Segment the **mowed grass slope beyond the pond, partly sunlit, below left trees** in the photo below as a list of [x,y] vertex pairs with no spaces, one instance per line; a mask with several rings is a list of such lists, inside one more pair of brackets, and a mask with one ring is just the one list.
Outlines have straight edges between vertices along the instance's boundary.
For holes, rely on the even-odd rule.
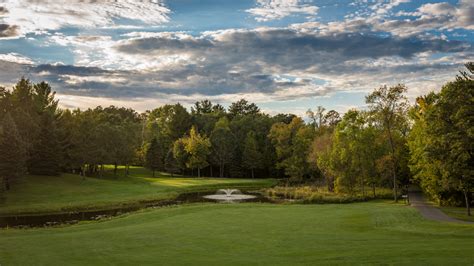
[[52,213],[86,209],[106,209],[140,201],[171,199],[179,193],[226,187],[260,188],[273,185],[273,179],[230,179],[170,177],[147,169],[123,169],[114,177],[108,169],[104,178],[79,175],[26,176],[16,180],[11,190],[0,194],[0,215]]

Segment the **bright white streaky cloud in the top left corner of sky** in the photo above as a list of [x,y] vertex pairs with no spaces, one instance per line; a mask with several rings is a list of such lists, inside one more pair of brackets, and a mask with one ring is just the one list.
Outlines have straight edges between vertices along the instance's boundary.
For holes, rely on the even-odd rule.
[[120,18],[160,24],[168,21],[170,13],[161,0],[0,0],[0,4],[8,10],[0,22],[19,27],[20,36],[65,26],[117,26]]

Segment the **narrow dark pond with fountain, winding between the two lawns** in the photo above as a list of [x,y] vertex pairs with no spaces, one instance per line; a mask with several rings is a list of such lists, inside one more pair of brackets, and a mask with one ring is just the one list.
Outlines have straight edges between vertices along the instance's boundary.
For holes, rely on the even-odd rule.
[[217,199],[207,198],[215,194],[215,191],[182,193],[173,200],[158,200],[143,202],[133,206],[119,207],[106,210],[91,210],[91,211],[77,211],[66,213],[53,214],[37,214],[37,215],[16,215],[16,216],[0,216],[0,227],[15,227],[15,228],[29,228],[29,227],[46,227],[61,224],[75,224],[79,221],[93,221],[109,218],[125,213],[138,211],[145,208],[159,208],[164,206],[172,206],[186,203],[198,202],[214,202],[216,204],[222,203],[238,203],[245,202],[273,202],[271,199],[256,192],[244,192],[246,195],[252,195],[252,198],[245,200],[221,201]]

